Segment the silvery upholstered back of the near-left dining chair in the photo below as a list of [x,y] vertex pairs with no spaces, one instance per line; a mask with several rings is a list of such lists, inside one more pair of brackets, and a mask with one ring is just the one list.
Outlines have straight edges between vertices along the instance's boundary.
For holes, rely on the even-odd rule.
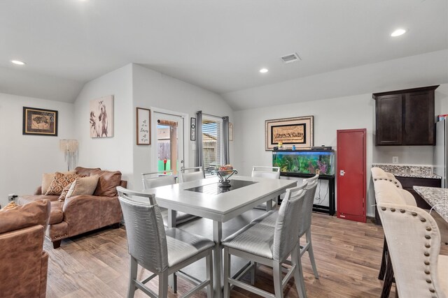
[[[118,187],[117,191],[130,255],[146,269],[165,271],[168,267],[167,237],[155,196],[122,187]],[[135,195],[138,198],[133,197]]]

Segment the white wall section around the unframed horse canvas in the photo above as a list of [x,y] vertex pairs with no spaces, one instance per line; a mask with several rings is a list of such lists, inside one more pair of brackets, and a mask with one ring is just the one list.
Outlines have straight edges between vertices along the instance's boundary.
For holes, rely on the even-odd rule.
[[[113,95],[113,137],[90,137],[90,100]],[[128,64],[87,82],[75,101],[76,138],[80,145],[78,165],[120,170],[132,188],[132,65]]]

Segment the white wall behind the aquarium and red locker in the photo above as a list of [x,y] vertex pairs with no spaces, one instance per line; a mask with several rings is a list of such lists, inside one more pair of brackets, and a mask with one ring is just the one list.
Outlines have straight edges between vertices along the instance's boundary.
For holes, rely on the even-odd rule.
[[[297,94],[297,102],[302,101]],[[448,114],[448,84],[435,92],[436,114]],[[399,156],[400,163],[432,164],[433,147],[375,147],[374,100],[372,94],[360,94],[315,100],[291,105],[276,105],[235,112],[235,167],[239,174],[250,174],[252,165],[271,165],[272,152],[265,151],[265,120],[314,115],[314,144],[336,149],[338,129],[367,128],[367,169],[372,162],[391,163],[392,156]],[[367,188],[370,171],[367,171]],[[337,200],[337,198],[336,198]],[[367,215],[374,214],[374,197],[367,193]]]

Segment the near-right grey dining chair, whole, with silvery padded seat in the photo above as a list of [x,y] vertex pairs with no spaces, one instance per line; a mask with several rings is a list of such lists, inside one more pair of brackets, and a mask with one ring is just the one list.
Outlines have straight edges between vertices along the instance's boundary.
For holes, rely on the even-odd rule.
[[[250,223],[235,234],[223,241],[224,246],[224,297],[230,297],[230,285],[235,285],[245,290],[254,292],[262,297],[283,297],[283,288],[289,279],[294,276],[295,286],[300,297],[306,297],[302,275],[302,264],[298,260],[299,225],[297,223],[300,206],[304,202],[306,183],[302,186],[286,190],[285,198],[281,202],[276,225],[263,225],[262,223]],[[241,277],[230,276],[231,255],[261,263],[273,268],[274,295],[252,284],[239,280]],[[282,264],[291,256],[291,264],[288,274],[282,277]],[[250,269],[250,267],[248,267]],[[253,283],[253,278],[251,278]]]

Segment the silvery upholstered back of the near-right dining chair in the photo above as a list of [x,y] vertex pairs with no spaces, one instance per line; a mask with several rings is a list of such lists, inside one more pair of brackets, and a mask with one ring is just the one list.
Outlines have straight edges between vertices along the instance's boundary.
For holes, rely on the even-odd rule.
[[307,182],[304,182],[301,186],[288,188],[285,198],[281,202],[272,247],[272,258],[276,261],[283,262],[283,260],[286,260],[297,245],[297,234],[299,234],[297,214],[300,214],[306,187]]

